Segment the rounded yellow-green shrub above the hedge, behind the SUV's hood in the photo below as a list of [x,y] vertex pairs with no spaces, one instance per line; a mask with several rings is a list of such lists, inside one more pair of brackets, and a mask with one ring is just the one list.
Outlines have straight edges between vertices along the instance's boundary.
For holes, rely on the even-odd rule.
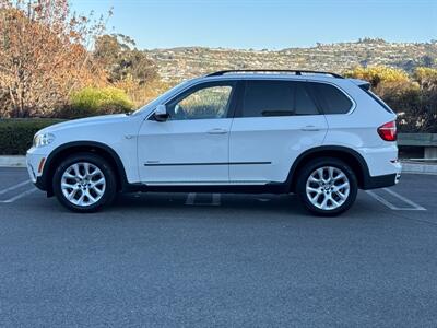
[[85,87],[74,92],[70,105],[59,113],[62,118],[80,118],[105,114],[129,113],[133,103],[117,87]]

